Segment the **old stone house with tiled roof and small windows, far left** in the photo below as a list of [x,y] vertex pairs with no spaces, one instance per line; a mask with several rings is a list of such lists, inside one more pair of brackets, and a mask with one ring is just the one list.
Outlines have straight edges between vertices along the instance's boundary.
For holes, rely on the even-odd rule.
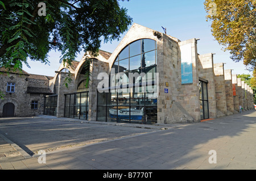
[[45,75],[0,68],[0,117],[35,116],[43,114],[44,96],[51,95]]

